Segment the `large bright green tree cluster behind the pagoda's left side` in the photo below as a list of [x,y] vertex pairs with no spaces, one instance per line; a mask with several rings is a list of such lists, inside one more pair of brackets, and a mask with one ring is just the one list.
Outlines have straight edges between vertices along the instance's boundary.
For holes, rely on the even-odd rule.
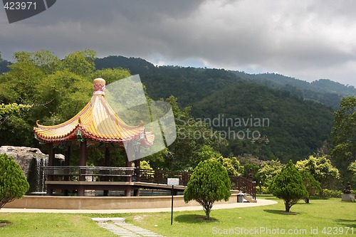
[[[110,83],[129,75],[119,68],[95,71],[94,58],[90,50],[70,53],[63,60],[50,51],[14,53],[10,70],[0,74],[0,144],[38,147],[33,137],[36,120],[42,125],[65,122],[90,101],[95,76],[108,76]],[[31,105],[26,113],[18,110]],[[101,157],[88,157],[88,162],[96,164]]]

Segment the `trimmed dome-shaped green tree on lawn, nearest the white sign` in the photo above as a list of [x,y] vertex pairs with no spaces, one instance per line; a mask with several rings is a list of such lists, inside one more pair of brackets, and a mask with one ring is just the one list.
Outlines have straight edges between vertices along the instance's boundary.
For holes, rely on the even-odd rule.
[[206,159],[194,169],[184,190],[184,201],[197,201],[210,219],[215,201],[228,201],[231,196],[231,181],[226,169],[216,159]]

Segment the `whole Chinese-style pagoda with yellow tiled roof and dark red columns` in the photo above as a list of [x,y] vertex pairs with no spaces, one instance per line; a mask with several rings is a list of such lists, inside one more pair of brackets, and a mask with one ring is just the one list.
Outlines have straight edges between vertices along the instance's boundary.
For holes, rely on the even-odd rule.
[[[83,107],[83,110],[80,110],[70,120],[54,126],[40,125],[37,121],[36,127],[33,127],[36,139],[49,147],[48,167],[53,167],[53,172],[48,174],[58,174],[58,172],[61,173],[64,170],[63,167],[54,167],[55,147],[65,147],[64,167],[70,167],[70,149],[73,144],[78,144],[80,147],[78,167],[82,168],[86,166],[86,154],[89,145],[105,146],[104,167],[110,167],[110,147],[122,147],[126,150],[127,157],[125,159],[128,170],[132,169],[132,160],[135,160],[135,167],[140,167],[141,147],[150,147],[154,142],[155,135],[152,131],[146,132],[142,122],[137,126],[127,125],[112,110],[105,99],[105,80],[96,78],[93,83],[94,93],[91,100]],[[70,169],[66,170],[68,172]],[[48,175],[47,181],[51,181],[51,179],[53,177]],[[132,177],[128,176],[126,181],[131,181],[131,179]],[[79,181],[81,183],[75,184],[75,189],[78,190],[78,196],[84,196],[85,183],[83,181],[85,181],[85,175],[79,175]],[[53,194],[53,189],[66,190],[67,188],[68,186],[63,183],[58,184],[58,186],[47,184],[47,194]],[[108,195],[108,190],[105,190],[105,187],[103,187],[103,190],[104,195]],[[130,192],[130,187],[126,187],[125,195],[130,196]]]

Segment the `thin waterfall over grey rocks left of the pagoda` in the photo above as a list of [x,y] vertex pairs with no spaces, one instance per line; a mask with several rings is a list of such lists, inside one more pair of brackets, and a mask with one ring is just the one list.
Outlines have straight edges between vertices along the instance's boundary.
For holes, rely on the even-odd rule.
[[28,173],[28,194],[46,194],[46,174],[43,167],[48,165],[48,158],[33,158]]

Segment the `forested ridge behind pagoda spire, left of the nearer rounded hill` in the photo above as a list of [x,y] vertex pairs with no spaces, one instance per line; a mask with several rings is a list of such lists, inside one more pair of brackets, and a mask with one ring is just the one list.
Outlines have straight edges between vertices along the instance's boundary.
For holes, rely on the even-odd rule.
[[155,67],[141,58],[109,56],[95,60],[97,69],[127,68],[132,75],[140,74],[150,97],[158,100],[174,95],[179,105],[192,105],[226,85],[241,78],[224,69],[182,68],[178,66]]

